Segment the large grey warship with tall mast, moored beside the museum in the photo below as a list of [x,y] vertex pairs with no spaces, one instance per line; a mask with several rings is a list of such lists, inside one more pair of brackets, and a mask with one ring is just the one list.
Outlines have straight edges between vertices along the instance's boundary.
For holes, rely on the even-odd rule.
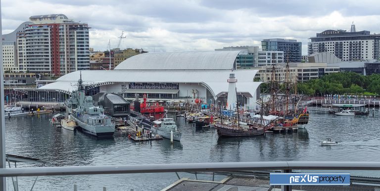
[[71,97],[65,101],[66,113],[74,119],[84,133],[96,137],[112,137],[115,124],[108,115],[104,114],[101,106],[93,104],[93,97],[86,96],[82,84],[82,73],[78,80],[78,90],[73,91]]

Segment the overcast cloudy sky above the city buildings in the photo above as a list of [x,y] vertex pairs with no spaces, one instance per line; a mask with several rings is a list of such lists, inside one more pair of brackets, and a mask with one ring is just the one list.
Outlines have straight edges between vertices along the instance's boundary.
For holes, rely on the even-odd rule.
[[328,29],[380,33],[376,0],[1,0],[2,34],[32,15],[65,14],[88,23],[90,47],[198,51],[259,46],[268,38],[308,38]]

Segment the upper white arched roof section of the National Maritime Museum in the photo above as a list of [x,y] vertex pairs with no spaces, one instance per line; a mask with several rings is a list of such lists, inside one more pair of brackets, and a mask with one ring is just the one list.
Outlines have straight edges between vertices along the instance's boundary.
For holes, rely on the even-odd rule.
[[148,52],[124,60],[115,70],[234,70],[239,52]]

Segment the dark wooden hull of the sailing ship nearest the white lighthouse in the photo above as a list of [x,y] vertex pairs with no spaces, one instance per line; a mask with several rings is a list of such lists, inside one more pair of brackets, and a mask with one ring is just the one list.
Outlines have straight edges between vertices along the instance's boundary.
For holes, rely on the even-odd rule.
[[217,124],[214,126],[218,130],[219,137],[252,137],[264,135],[263,130],[228,128]]

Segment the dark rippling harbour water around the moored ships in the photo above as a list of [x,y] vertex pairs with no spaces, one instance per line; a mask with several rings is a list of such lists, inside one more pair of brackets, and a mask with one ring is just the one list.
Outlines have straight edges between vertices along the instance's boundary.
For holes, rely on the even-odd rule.
[[[127,165],[150,163],[238,161],[379,161],[379,111],[370,116],[335,116],[311,113],[306,129],[265,137],[218,138],[213,128],[197,131],[178,118],[181,142],[169,140],[135,143],[126,137],[98,140],[82,132],[51,125],[52,114],[6,119],[6,153],[47,161],[46,166]],[[169,114],[169,117],[174,117]],[[326,138],[337,145],[322,146]],[[18,164],[33,166],[30,164]],[[12,167],[13,168],[13,167]],[[358,175],[380,177],[375,172]],[[195,178],[180,173],[181,177]],[[198,175],[198,178],[200,176]],[[203,178],[208,178],[206,175]],[[219,177],[222,178],[222,177]],[[31,188],[35,177],[19,177],[19,190]],[[160,190],[178,180],[175,173],[39,177],[34,190]],[[8,189],[13,190],[8,178]]]

